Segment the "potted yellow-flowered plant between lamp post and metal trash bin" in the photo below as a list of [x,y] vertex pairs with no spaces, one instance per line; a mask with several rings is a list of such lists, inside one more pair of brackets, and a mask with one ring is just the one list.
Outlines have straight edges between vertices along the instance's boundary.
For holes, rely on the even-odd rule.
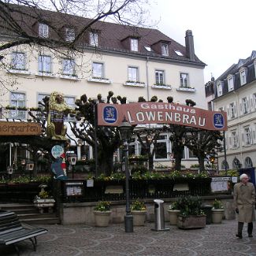
[[145,203],[139,200],[135,200],[132,203],[132,216],[133,216],[133,225],[143,226],[146,223],[146,214],[147,208]]

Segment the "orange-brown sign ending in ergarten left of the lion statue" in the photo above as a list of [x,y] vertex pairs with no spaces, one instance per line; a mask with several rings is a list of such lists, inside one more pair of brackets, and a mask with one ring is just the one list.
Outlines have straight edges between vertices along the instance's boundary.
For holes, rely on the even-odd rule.
[[39,123],[0,121],[0,135],[41,135]]

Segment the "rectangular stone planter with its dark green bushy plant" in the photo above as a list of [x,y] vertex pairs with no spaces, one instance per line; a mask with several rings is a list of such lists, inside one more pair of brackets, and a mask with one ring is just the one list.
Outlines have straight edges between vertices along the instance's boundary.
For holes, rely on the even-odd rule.
[[202,200],[198,196],[182,196],[177,200],[180,215],[177,226],[181,229],[204,228],[206,226],[206,215],[201,210]]

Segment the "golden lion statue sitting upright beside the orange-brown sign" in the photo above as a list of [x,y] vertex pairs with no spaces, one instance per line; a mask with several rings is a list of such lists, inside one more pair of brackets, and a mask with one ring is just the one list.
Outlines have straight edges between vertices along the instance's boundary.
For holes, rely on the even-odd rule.
[[64,124],[65,113],[71,108],[65,103],[63,94],[54,91],[50,94],[49,113],[47,117],[46,135],[50,139],[66,140],[67,126]]

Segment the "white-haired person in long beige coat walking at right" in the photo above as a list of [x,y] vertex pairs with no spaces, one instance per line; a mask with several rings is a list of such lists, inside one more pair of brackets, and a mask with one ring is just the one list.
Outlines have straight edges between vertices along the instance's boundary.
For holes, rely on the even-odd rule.
[[243,238],[243,223],[247,222],[248,236],[252,237],[253,221],[255,221],[254,203],[255,188],[254,184],[248,182],[247,174],[240,176],[240,182],[234,187],[234,202],[236,213],[238,213],[238,232],[236,234],[240,239]]

